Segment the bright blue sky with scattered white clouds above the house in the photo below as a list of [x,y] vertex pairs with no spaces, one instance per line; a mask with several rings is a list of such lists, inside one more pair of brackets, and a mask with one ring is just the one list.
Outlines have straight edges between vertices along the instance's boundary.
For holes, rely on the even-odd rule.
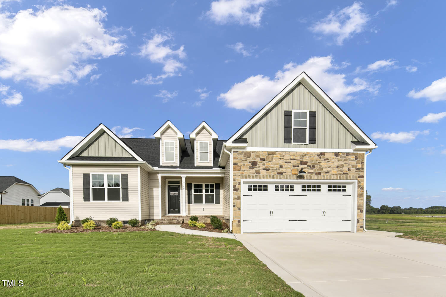
[[151,137],[204,120],[227,139],[306,71],[378,144],[372,205],[446,205],[445,9],[0,0],[0,175],[68,187],[57,160],[100,122]]

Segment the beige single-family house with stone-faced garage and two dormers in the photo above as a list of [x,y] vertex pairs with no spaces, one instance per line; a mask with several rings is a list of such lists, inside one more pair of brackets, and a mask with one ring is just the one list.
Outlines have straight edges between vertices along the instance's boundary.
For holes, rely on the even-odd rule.
[[206,122],[188,136],[171,121],[151,139],[97,126],[58,161],[70,171],[73,223],[215,215],[235,233],[363,230],[377,146],[306,73],[228,140]]

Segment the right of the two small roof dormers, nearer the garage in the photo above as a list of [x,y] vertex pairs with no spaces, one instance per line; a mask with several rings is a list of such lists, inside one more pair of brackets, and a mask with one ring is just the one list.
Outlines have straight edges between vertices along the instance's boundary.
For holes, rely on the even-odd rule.
[[219,135],[206,122],[202,122],[190,133],[189,138],[190,147],[194,151],[195,166],[213,166],[214,148]]

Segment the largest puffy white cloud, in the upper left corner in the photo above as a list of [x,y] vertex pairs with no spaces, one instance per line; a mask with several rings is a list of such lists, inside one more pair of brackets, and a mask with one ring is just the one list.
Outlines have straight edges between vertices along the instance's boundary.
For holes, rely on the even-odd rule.
[[77,82],[96,69],[91,60],[123,54],[125,45],[104,28],[106,16],[68,5],[0,12],[0,77],[39,90]]

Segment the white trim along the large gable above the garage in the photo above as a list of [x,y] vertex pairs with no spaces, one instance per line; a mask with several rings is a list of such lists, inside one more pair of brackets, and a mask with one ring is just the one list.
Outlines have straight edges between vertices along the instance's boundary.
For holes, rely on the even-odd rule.
[[[298,83],[302,83],[312,92],[316,98],[318,98],[324,106],[332,112],[336,118],[344,125],[351,127],[352,131],[354,131],[355,137],[362,138],[364,141],[372,144],[373,148],[376,148],[375,142],[372,139],[368,138],[368,136],[345,114],[343,110],[336,105],[336,103],[328,97],[327,94],[309,77],[305,72],[302,72],[297,76],[289,85],[285,87],[285,89],[281,90],[276,97],[273,98],[267,105],[265,105],[254,117],[252,117],[244,126],[242,126],[231,138],[228,139],[227,142],[233,142],[235,139],[239,138],[241,134],[243,134],[246,130],[248,130],[262,115],[264,115],[268,110],[270,110],[279,100],[281,100],[288,92],[293,89]],[[350,129],[349,129],[350,130]],[[352,132],[351,131],[351,132]]]

